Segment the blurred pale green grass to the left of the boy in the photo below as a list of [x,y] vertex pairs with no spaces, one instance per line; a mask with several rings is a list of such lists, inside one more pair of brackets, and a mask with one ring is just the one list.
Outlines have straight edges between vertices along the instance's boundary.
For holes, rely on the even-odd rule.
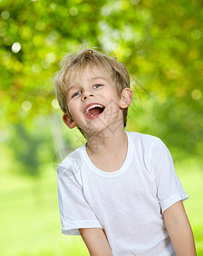
[[51,166],[40,179],[3,174],[0,183],[0,255],[88,255],[79,236],[61,235]]

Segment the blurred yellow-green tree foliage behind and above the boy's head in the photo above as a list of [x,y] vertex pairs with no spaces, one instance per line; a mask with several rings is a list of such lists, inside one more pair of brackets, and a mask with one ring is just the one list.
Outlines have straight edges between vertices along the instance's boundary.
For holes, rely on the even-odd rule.
[[203,153],[201,0],[2,0],[0,15],[1,138],[13,143],[20,135],[16,158],[32,174],[40,140],[55,150],[49,131],[40,136],[60,113],[52,77],[61,57],[81,46],[114,53],[142,84],[134,86],[128,129],[161,137],[179,155]]

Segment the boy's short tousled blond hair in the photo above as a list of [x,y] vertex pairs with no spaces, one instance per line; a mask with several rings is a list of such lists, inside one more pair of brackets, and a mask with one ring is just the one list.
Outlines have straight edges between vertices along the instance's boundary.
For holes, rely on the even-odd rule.
[[[67,79],[71,73],[92,66],[103,68],[112,82],[116,85],[119,95],[125,88],[130,88],[130,75],[125,65],[115,57],[104,55],[98,49],[83,49],[76,54],[66,55],[61,61],[61,70],[55,75],[55,93],[60,108],[69,113],[67,108]],[[128,108],[123,111],[124,127],[126,126]],[[70,113],[69,113],[70,114]]]

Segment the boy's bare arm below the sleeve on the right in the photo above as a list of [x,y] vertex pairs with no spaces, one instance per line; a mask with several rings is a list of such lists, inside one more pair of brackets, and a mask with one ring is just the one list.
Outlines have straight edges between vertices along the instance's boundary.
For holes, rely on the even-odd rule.
[[196,256],[193,231],[183,202],[178,201],[165,210],[165,225],[177,256]]

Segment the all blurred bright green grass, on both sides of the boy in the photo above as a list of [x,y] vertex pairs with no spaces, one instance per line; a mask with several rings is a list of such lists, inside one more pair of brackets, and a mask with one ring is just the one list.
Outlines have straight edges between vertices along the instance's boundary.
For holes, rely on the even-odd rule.
[[[189,199],[184,205],[194,230],[198,255],[203,255],[203,172],[197,160],[176,163]],[[61,235],[56,173],[48,166],[33,180],[3,173],[0,181],[0,255],[89,255],[79,236]]]

